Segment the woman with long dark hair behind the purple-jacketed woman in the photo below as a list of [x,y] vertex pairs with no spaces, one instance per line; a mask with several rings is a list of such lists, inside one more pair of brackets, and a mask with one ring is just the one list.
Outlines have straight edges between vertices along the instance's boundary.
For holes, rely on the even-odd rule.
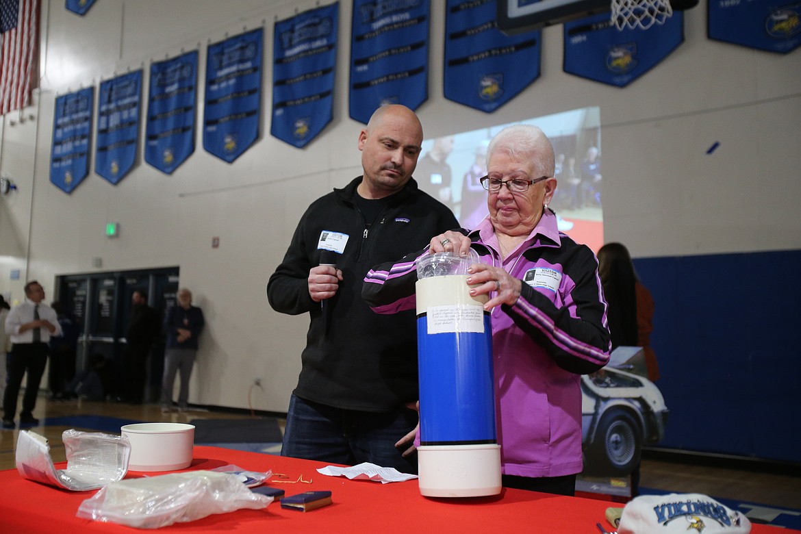
[[607,243],[598,251],[598,274],[601,275],[607,319],[612,335],[612,350],[622,346],[642,347],[648,379],[659,378],[650,333],[654,330],[654,298],[634,272],[634,263],[622,243]]

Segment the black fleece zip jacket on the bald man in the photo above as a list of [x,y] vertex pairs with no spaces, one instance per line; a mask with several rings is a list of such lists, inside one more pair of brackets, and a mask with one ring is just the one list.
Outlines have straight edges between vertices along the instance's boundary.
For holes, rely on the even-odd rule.
[[[309,314],[303,367],[294,393],[336,408],[388,412],[417,400],[417,326],[413,311],[373,313],[361,299],[369,269],[425,247],[434,235],[459,224],[444,204],[409,180],[367,229],[354,195],[362,177],[335,189],[308,207],[284,260],[267,284],[272,308],[289,315]],[[320,233],[348,235],[336,267],[343,280],[331,307],[328,335],[320,303],[308,294],[308,271],[320,263]]]

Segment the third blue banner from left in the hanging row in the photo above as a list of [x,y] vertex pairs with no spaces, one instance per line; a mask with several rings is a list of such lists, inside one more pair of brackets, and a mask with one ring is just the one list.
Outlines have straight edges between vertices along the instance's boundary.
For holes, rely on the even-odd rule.
[[195,151],[198,52],[151,64],[145,161],[167,175]]

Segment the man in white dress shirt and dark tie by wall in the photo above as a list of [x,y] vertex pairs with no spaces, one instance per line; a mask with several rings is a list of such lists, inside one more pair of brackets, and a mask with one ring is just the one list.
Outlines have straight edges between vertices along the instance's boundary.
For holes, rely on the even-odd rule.
[[25,302],[11,308],[6,317],[6,334],[11,336],[11,351],[6,355],[6,391],[3,394],[2,428],[14,428],[14,413],[22,376],[27,372],[19,426],[39,424],[34,417],[39,382],[47,363],[48,342],[51,335],[61,335],[58,316],[53,308],[42,303],[45,290],[36,280],[25,284]]

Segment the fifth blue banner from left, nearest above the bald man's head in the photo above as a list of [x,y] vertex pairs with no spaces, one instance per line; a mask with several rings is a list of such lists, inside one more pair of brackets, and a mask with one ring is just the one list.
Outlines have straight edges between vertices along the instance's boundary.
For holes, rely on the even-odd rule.
[[276,22],[272,67],[272,130],[305,147],[331,122],[340,5]]

